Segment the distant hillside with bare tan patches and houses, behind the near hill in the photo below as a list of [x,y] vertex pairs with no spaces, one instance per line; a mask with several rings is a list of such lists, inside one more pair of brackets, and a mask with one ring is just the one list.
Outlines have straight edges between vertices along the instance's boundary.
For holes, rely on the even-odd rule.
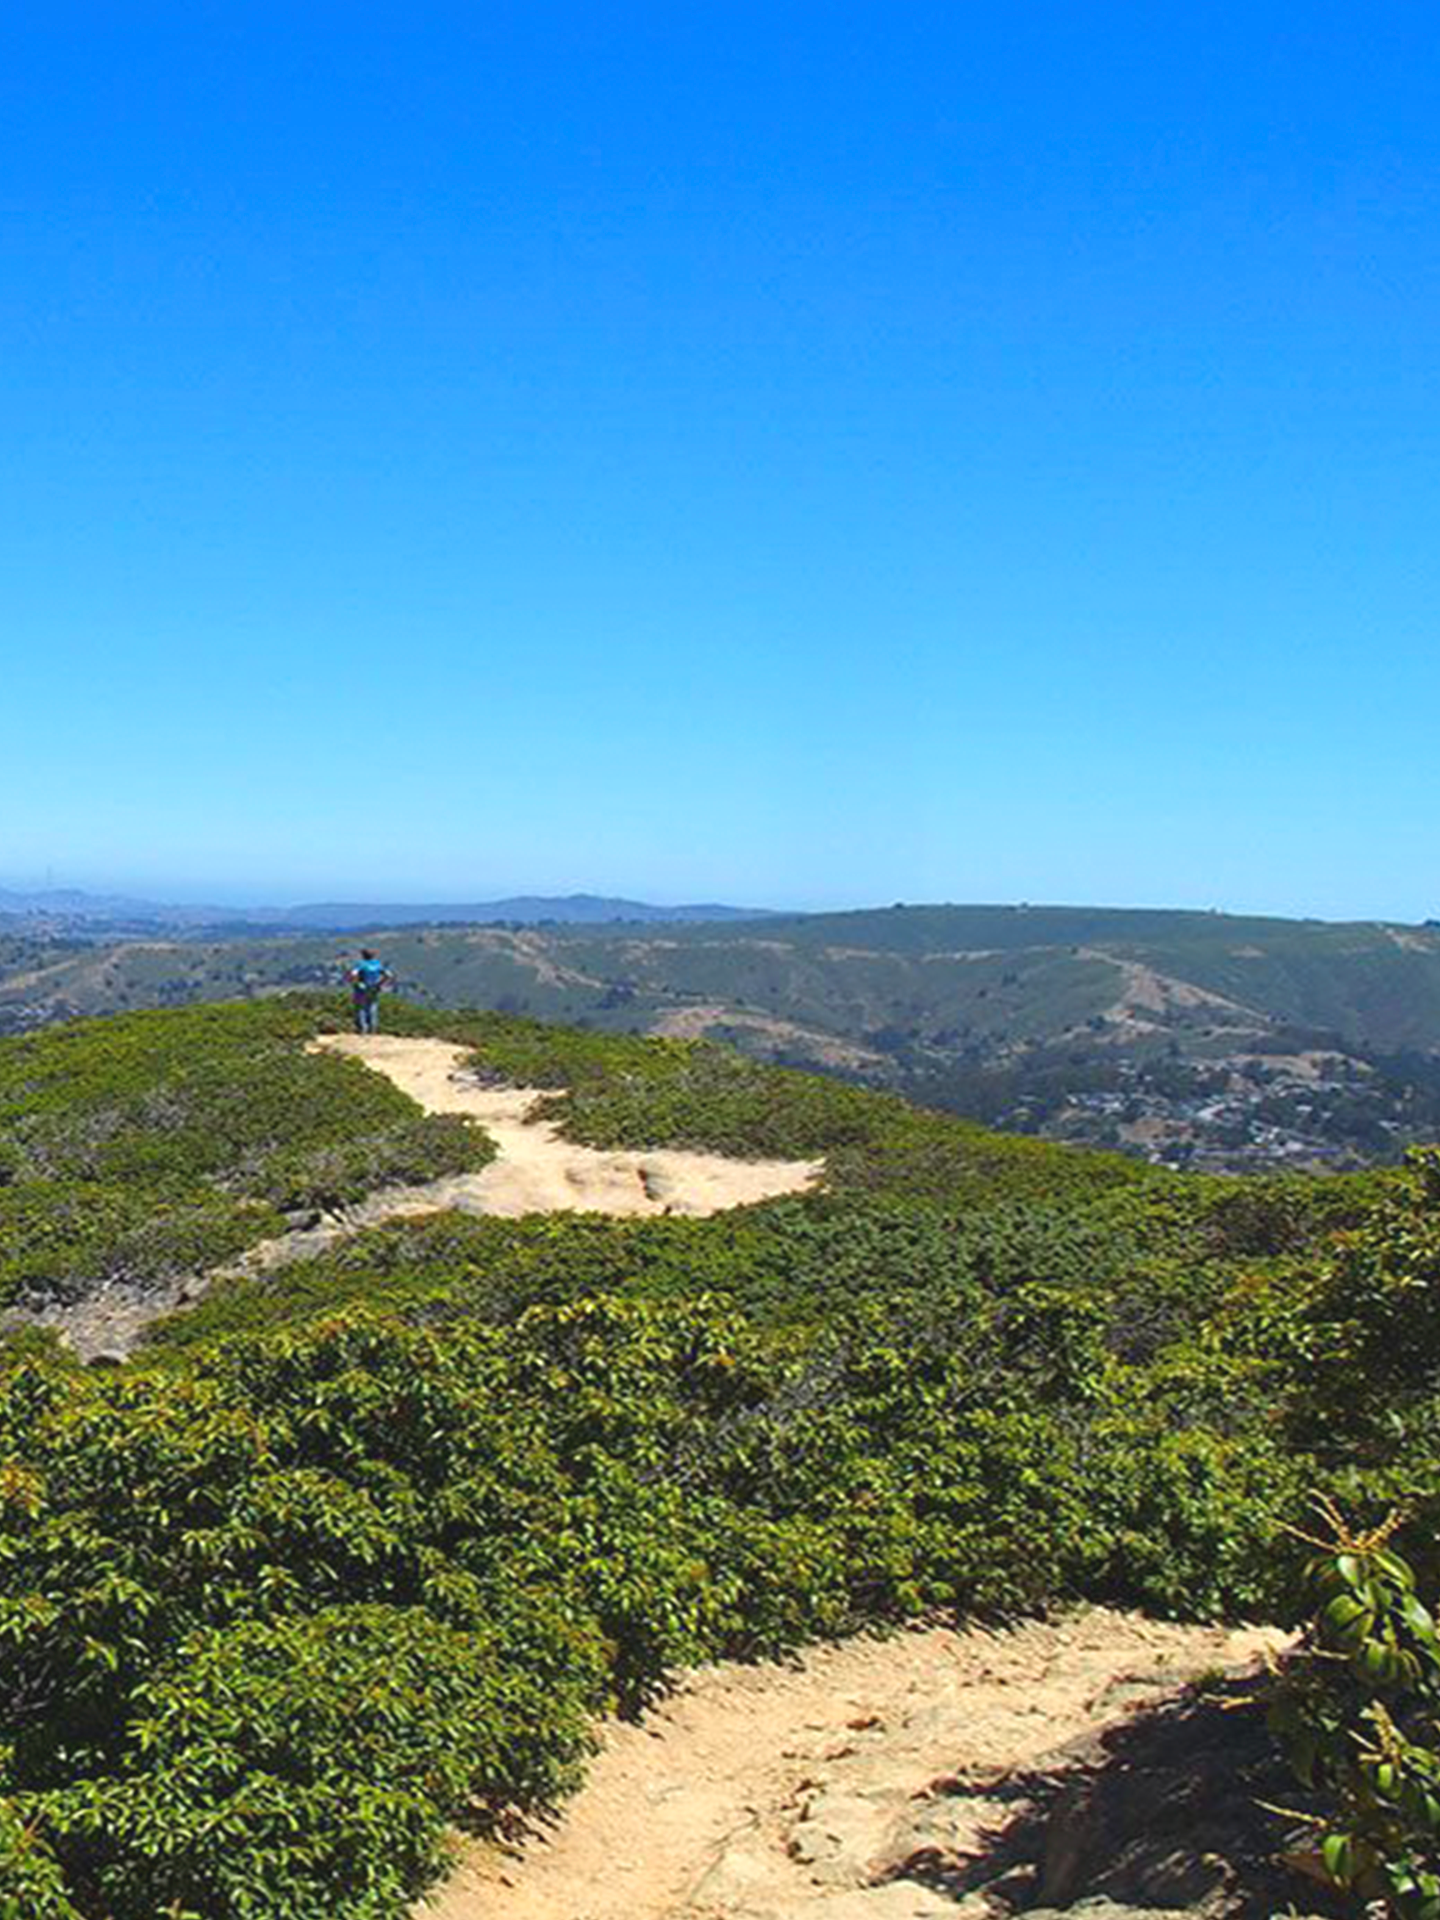
[[0,1031],[338,985],[363,937],[405,993],[436,1006],[707,1035],[1171,1165],[1346,1167],[1440,1135],[1440,929],[1428,925],[1064,906],[520,920],[371,924],[344,945],[0,939]]

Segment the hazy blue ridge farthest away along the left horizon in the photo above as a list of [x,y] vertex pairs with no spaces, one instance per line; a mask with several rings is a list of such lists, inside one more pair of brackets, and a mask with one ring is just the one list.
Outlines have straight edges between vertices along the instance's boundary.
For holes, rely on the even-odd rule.
[[724,906],[705,900],[689,906],[655,906],[599,893],[513,895],[503,900],[386,902],[323,900],[301,906],[175,906],[119,893],[84,893],[50,887],[38,893],[0,887],[0,918],[102,927],[265,927],[296,933],[344,933],[357,927],[495,925],[605,925],[614,920],[639,925],[659,922],[760,920],[768,908]]

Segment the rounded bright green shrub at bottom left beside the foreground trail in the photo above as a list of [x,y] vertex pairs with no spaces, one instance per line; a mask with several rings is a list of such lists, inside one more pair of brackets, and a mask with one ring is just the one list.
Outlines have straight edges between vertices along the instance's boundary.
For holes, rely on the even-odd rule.
[[493,1636],[424,1609],[248,1620],[184,1640],[134,1690],[115,1772],[46,1795],[44,1822],[113,1920],[388,1914],[434,1872],[442,1812],[511,1799],[543,1734],[578,1751]]

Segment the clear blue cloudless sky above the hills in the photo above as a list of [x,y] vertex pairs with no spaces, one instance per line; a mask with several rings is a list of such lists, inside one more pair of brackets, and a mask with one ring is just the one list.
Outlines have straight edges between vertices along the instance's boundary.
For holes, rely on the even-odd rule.
[[0,883],[1440,912],[1440,52],[15,0]]

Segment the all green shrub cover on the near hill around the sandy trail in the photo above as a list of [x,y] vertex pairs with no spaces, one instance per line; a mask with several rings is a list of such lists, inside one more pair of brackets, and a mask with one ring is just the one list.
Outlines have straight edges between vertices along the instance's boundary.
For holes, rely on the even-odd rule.
[[[119,1367],[13,1340],[0,1914],[399,1916],[447,1822],[553,1803],[593,1716],[693,1661],[1068,1599],[1296,1620],[1313,1549],[1286,1528],[1321,1488],[1352,1526],[1405,1519],[1321,1555],[1334,1661],[1277,1722],[1354,1841],[1336,1872],[1419,1920],[1432,1158],[1185,1179],[703,1043],[386,1018],[551,1087],[578,1139],[826,1154],[828,1181],[710,1219],[371,1229]],[[267,1000],[0,1044],[12,1271],[84,1288],[134,1271],[146,1223],[190,1260],[486,1156],[307,1054],[332,1020]],[[1354,1778],[1377,1701],[1407,1743],[1384,1818]]]

